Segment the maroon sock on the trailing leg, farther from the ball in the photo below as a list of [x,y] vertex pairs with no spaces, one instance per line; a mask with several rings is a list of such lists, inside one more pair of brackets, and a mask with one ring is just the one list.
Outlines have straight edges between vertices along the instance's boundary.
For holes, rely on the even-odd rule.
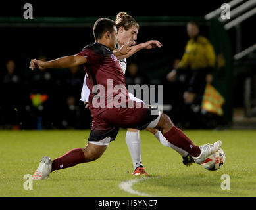
[[78,163],[84,163],[84,152],[82,148],[70,150],[63,156],[53,159],[51,171],[66,169]]

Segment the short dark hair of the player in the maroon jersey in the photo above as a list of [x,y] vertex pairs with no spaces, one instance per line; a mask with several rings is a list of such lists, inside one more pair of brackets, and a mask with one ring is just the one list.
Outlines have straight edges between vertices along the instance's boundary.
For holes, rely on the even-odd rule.
[[99,18],[98,20],[96,20],[93,26],[93,35],[95,40],[101,39],[101,37],[103,37],[104,33],[106,33],[107,31],[109,31],[109,33],[112,33],[114,30],[113,26],[116,26],[116,23],[109,18]]

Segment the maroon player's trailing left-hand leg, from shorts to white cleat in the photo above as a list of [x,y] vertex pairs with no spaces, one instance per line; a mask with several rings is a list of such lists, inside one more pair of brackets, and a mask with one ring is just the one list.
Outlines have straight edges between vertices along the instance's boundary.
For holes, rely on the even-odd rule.
[[66,169],[98,159],[107,149],[109,142],[115,140],[117,133],[118,128],[109,126],[100,115],[93,117],[90,137],[86,147],[70,150],[63,156],[53,159],[53,161],[47,156],[43,157],[33,175],[33,179],[45,179],[49,173],[55,170]]

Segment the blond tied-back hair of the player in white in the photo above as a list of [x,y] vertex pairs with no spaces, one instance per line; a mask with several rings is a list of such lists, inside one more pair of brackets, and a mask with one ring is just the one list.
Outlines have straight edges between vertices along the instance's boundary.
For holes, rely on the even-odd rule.
[[136,22],[136,20],[132,16],[127,14],[127,12],[119,12],[116,15],[117,30],[121,26],[124,27],[125,30],[129,30],[130,28],[132,28],[132,26],[136,26],[138,29],[140,28],[140,25],[138,24],[138,22]]

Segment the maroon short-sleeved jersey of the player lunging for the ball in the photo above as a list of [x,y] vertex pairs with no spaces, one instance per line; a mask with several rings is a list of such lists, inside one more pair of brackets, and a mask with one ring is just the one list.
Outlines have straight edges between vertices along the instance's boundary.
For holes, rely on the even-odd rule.
[[[86,85],[90,89],[89,108],[95,117],[116,104],[128,104],[128,91],[124,74],[111,49],[100,43],[87,45],[80,56],[87,58],[84,69],[88,75]],[[97,85],[98,89],[95,89]],[[103,91],[104,88],[105,91]]]

